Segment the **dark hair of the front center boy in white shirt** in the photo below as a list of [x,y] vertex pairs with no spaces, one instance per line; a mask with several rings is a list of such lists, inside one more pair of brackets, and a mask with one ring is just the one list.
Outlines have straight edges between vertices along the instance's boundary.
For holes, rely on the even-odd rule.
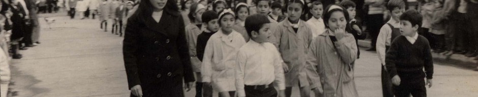
[[271,23],[271,21],[267,19],[267,16],[254,14],[246,18],[244,27],[246,28],[247,34],[252,37],[252,31],[259,32],[259,29],[266,23]]

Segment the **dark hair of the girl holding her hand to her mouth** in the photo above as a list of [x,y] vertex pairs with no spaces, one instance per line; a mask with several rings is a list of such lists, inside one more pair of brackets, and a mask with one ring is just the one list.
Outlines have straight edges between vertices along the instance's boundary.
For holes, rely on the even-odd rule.
[[341,9],[337,9],[337,8],[336,8],[336,9],[332,9],[332,10],[328,11],[332,6],[339,6],[339,5],[329,5],[327,8],[325,8],[325,10],[323,10],[323,11],[324,11],[324,14],[323,14],[323,22],[324,22],[324,24],[325,24],[325,28],[329,28],[329,27],[328,27],[328,20],[331,18],[332,13],[334,13],[334,12],[342,12],[342,13],[344,13],[345,20],[347,21],[346,29],[349,29],[349,28],[350,28],[350,26],[349,26],[350,17],[349,17],[349,15],[348,15],[347,10],[346,10],[344,7],[342,7],[342,6],[339,6]]

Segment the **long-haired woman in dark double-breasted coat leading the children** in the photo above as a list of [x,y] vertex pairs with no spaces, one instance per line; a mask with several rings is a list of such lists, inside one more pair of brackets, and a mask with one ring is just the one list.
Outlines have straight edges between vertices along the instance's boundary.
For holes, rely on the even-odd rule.
[[[183,18],[174,0],[143,0],[123,41],[131,96],[184,96],[194,82]],[[184,78],[184,81],[183,81]]]

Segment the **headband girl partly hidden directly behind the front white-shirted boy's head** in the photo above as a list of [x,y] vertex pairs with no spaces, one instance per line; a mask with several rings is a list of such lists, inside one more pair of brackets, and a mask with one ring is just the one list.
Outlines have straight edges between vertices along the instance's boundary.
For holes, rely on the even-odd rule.
[[249,41],[249,35],[247,35],[246,27],[244,27],[246,18],[249,16],[249,9],[247,8],[247,6],[248,5],[246,3],[237,4],[237,6],[234,9],[235,14],[237,16],[236,16],[235,24],[232,27],[232,29],[234,29],[235,31],[243,35],[246,42]]

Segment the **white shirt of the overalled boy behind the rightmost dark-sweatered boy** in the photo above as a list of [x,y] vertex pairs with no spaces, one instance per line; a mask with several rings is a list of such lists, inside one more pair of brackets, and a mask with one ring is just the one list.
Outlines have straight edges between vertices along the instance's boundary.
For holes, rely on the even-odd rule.
[[[391,18],[387,23],[394,26],[394,28],[400,28],[400,21],[396,21]],[[385,24],[382,26],[382,28],[380,28],[380,32],[378,33],[377,37],[377,43],[375,44],[378,59],[380,59],[382,65],[385,65],[385,46],[390,46],[390,44],[392,44],[392,27],[390,27],[388,24]]]

